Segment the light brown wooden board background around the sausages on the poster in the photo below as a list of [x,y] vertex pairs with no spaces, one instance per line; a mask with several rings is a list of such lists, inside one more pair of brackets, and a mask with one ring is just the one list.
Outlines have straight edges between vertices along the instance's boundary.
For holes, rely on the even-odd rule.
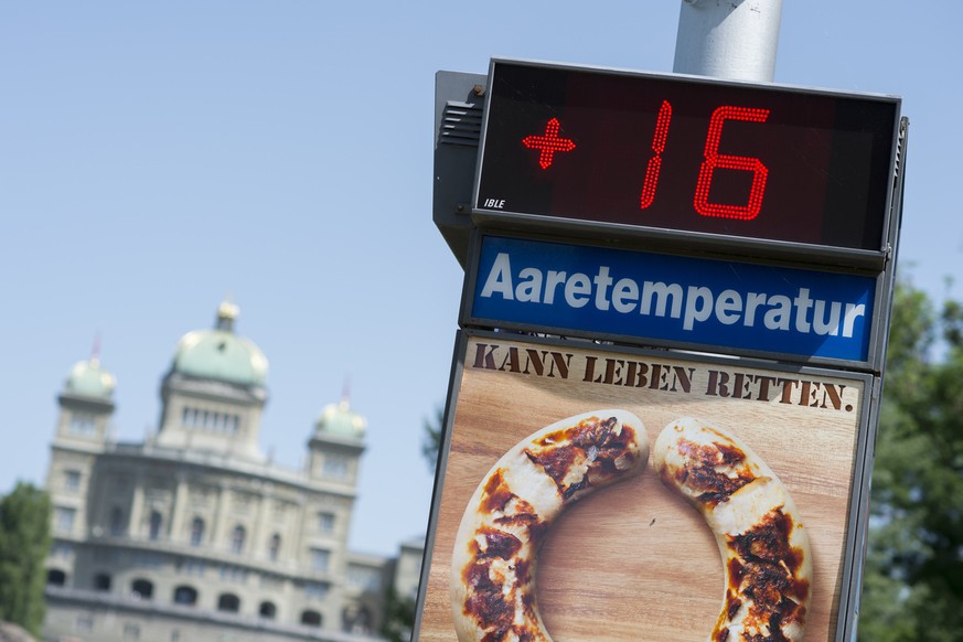
[[[535,355],[541,368],[532,362]],[[738,398],[737,384],[745,398]],[[495,461],[548,424],[622,408],[640,417],[650,443],[668,422],[693,416],[732,430],[772,468],[802,513],[813,552],[806,639],[832,640],[863,393],[858,379],[758,371],[735,362],[470,340],[432,515],[418,639],[457,640],[448,597],[454,534]],[[704,641],[723,601],[724,571],[713,534],[661,484],[651,462],[641,477],[569,507],[538,554],[536,577],[541,611],[556,642]]]

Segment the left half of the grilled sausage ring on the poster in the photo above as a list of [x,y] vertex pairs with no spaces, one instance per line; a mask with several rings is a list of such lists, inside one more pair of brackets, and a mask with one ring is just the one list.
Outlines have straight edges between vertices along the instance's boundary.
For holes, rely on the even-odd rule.
[[538,547],[553,521],[592,491],[642,472],[649,441],[625,410],[547,426],[509,450],[461,518],[451,560],[460,642],[550,642],[535,597]]

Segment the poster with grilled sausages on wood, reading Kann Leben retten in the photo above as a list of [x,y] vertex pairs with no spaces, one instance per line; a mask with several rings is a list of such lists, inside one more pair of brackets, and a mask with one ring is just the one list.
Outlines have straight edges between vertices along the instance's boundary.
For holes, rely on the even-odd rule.
[[[458,628],[463,640],[541,639],[522,634],[529,627],[556,642],[702,642],[726,639],[720,627],[758,625],[745,622],[751,609],[789,631],[768,639],[836,636],[849,599],[850,503],[865,483],[868,375],[514,333],[460,336],[416,639],[454,642]],[[598,428],[575,456],[556,448],[584,437],[564,430],[573,425]],[[708,469],[660,474],[655,460],[675,466],[655,456],[666,427],[671,448],[689,453],[702,451],[687,430],[735,441],[716,439],[725,448]],[[644,442],[635,452],[630,431]],[[735,480],[699,482],[695,502],[724,509],[711,524],[680,490],[703,473]],[[737,500],[759,478],[769,490]],[[731,545],[736,561],[724,563],[718,532],[732,523],[752,531],[769,504],[785,549],[743,537]],[[780,569],[789,580],[763,577]],[[767,602],[775,606],[767,611]]]

